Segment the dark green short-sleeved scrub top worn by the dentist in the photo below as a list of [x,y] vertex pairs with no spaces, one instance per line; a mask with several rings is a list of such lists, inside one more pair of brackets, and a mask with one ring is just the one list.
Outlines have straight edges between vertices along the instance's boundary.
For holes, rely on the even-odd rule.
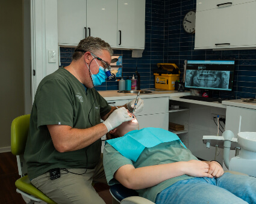
[[101,122],[111,106],[95,88],[87,89],[69,71],[59,68],[40,82],[30,116],[24,158],[28,177],[36,178],[54,168],[93,169],[101,155],[101,139],[83,149],[58,152],[46,125],[84,129]]

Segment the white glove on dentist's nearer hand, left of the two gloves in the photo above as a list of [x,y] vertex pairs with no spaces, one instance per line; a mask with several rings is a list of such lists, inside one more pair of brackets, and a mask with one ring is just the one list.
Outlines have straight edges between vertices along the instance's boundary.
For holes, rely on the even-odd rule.
[[103,122],[103,124],[106,125],[109,132],[123,122],[131,121],[132,119],[133,117],[128,115],[127,109],[125,109],[125,107],[120,107],[119,109],[114,110],[113,113],[111,113],[110,116],[108,116],[108,118]]

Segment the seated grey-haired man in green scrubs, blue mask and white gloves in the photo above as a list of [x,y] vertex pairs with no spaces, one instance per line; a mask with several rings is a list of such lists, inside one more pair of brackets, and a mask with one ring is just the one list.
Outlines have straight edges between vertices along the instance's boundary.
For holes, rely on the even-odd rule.
[[[112,54],[101,38],[87,37],[70,65],[37,88],[24,158],[31,183],[56,203],[104,203],[92,187],[93,181],[107,182],[101,137],[132,119],[127,109],[135,102],[116,109],[94,88],[107,79]],[[142,109],[139,99],[135,112]]]

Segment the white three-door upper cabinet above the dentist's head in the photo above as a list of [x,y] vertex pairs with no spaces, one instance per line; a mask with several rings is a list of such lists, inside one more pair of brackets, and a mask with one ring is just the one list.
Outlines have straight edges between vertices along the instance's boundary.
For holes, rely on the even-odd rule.
[[144,49],[145,0],[58,0],[58,44],[102,38],[115,49]]

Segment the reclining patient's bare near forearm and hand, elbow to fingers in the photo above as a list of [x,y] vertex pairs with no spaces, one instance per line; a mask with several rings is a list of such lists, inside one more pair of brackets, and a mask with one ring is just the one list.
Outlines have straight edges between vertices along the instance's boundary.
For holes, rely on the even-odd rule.
[[136,190],[152,187],[167,179],[185,174],[195,177],[205,176],[213,178],[208,171],[209,164],[196,160],[158,164],[137,169],[131,164],[126,164],[114,173],[114,178],[126,188]]

